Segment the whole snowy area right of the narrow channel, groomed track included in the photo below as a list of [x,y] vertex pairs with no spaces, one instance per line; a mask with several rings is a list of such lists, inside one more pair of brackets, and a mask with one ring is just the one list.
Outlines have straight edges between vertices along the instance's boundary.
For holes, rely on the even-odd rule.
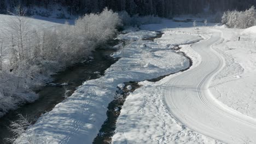
[[193,67],[156,83],[141,82],[126,99],[112,143],[256,143],[254,27],[165,25],[141,28],[196,30],[205,38],[181,49]]

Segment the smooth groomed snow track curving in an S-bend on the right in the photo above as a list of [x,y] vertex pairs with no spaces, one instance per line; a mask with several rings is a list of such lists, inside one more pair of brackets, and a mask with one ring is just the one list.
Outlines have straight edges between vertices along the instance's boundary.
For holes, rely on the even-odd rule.
[[256,119],[229,109],[208,89],[224,65],[223,58],[211,48],[221,36],[214,31],[210,39],[192,46],[202,61],[168,80],[165,103],[174,117],[201,134],[227,143],[256,143]]

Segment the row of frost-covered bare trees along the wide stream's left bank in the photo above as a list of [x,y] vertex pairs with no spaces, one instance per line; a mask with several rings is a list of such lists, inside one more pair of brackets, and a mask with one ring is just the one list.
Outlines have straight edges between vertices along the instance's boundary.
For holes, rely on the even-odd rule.
[[74,25],[47,29],[31,29],[24,15],[10,17],[3,26],[9,40],[4,43],[9,50],[5,58],[10,63],[0,70],[0,116],[18,104],[36,100],[32,88],[49,83],[50,75],[61,68],[84,61],[98,45],[113,39],[122,25],[119,15],[109,9],[85,14]]

